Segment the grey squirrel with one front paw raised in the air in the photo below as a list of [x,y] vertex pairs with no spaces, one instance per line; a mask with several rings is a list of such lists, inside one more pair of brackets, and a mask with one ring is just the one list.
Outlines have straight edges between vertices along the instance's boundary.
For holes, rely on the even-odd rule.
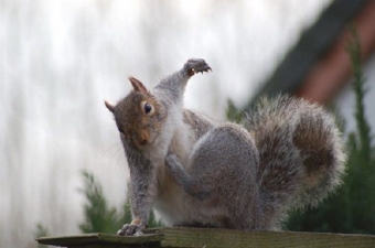
[[264,98],[242,125],[183,108],[188,80],[212,71],[201,58],[113,112],[130,170],[132,220],[142,235],[153,208],[167,226],[280,229],[291,208],[317,205],[341,184],[345,153],[332,115],[291,96]]

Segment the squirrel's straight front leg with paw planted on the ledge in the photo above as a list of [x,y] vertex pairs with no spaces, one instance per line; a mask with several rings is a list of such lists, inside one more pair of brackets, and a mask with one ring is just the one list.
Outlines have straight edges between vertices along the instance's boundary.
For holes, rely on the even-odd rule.
[[152,188],[154,185],[153,166],[144,155],[135,148],[131,148],[122,140],[124,148],[130,169],[130,207],[131,223],[125,224],[117,231],[120,236],[142,235],[148,225],[152,205]]

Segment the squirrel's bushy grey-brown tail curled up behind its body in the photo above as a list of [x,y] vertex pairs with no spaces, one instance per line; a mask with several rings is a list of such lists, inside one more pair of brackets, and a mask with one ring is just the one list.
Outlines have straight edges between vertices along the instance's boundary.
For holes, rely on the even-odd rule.
[[315,205],[341,183],[343,144],[322,107],[289,96],[264,98],[244,125],[259,150],[257,180],[269,222],[291,207]]

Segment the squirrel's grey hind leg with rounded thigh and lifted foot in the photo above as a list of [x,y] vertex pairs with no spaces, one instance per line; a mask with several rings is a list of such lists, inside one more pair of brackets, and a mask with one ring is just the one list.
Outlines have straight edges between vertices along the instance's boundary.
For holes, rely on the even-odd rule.
[[199,216],[221,228],[261,229],[259,163],[253,138],[239,126],[225,123],[208,131],[193,148],[189,166],[171,154],[167,168],[191,196],[206,200]]

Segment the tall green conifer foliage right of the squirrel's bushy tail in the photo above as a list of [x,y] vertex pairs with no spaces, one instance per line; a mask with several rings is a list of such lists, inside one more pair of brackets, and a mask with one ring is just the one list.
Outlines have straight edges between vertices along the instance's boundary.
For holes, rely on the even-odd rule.
[[356,130],[346,141],[344,184],[317,209],[294,213],[287,223],[291,230],[375,234],[375,148],[364,110],[365,80],[361,68],[361,44],[355,29],[347,53],[353,67]]

